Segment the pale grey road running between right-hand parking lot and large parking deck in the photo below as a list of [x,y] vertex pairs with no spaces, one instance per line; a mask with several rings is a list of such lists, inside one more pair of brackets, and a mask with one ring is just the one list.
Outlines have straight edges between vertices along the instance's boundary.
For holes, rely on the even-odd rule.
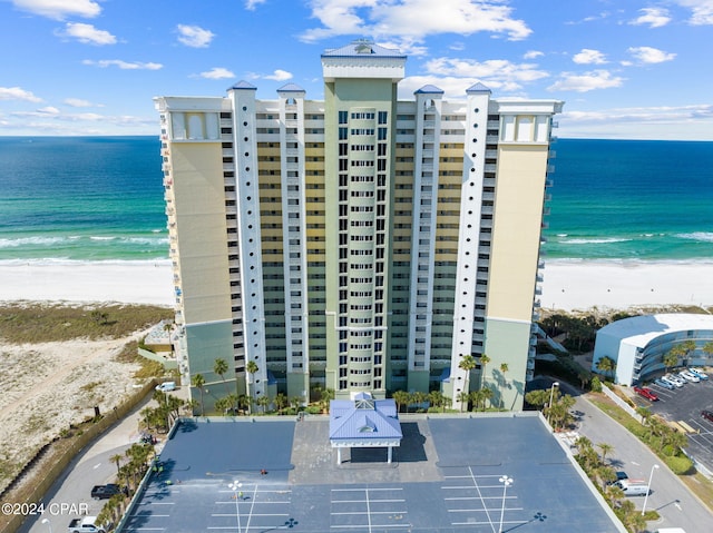
[[[564,391],[575,396],[574,389]],[[616,470],[625,471],[629,477],[645,480],[648,483],[652,468],[654,470],[651,495],[646,509],[656,510],[661,520],[648,523],[648,531],[660,527],[683,527],[686,533],[707,533],[713,524],[713,513],[668,470],[666,464],[654,455],[638,438],[632,435],[617,422],[609,418],[594,404],[583,396],[575,396],[574,409],[583,414],[578,433],[586,436],[595,445],[607,443],[614,451],[607,455]],[[638,509],[644,503],[643,497],[634,497]]]

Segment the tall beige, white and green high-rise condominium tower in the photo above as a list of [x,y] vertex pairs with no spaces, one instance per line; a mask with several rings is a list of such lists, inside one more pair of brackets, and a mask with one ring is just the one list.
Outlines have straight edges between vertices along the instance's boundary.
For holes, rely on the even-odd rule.
[[399,100],[406,60],[368,40],[328,50],[323,101],[246,82],[156,98],[176,351],[206,403],[437,389],[460,407],[487,387],[521,406],[563,103],[481,83]]

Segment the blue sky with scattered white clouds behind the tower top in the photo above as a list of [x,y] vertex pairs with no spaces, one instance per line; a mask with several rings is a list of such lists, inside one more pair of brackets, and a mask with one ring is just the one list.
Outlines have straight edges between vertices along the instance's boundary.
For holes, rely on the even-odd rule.
[[565,100],[559,137],[713,140],[713,0],[0,0],[0,135],[154,135],[155,96],[323,98],[320,55],[409,56],[400,98]]

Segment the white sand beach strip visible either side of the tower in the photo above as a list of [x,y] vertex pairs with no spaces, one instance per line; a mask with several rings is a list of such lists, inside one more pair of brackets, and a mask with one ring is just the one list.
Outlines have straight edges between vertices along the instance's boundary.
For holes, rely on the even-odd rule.
[[[713,259],[550,259],[541,308],[627,309],[713,306]],[[158,260],[3,260],[0,302],[125,303],[173,306],[173,270]]]

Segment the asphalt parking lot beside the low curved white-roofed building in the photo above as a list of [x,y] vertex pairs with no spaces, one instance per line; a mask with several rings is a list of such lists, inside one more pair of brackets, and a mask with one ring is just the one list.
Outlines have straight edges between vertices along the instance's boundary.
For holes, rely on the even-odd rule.
[[687,452],[706,468],[713,472],[713,423],[701,417],[701,411],[713,411],[713,375],[707,381],[686,383],[682,388],[670,391],[654,383],[647,385],[657,402],[648,402],[636,395],[634,401],[642,407],[651,408],[666,421],[684,423],[693,432],[687,432]]

